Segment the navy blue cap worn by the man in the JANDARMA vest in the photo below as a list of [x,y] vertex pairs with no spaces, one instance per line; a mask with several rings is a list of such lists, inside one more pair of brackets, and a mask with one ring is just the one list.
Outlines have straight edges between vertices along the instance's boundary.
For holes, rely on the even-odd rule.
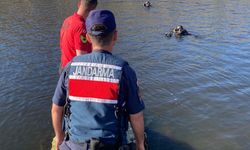
[[[93,26],[103,25],[105,28],[95,31]],[[106,35],[116,29],[114,14],[109,10],[92,10],[86,19],[87,33],[97,36]]]

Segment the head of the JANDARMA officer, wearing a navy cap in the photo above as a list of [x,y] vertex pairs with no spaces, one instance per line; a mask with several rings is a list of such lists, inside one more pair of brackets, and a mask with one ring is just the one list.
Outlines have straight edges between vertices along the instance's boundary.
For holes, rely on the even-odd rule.
[[93,50],[112,51],[117,40],[114,14],[109,10],[93,10],[86,19],[87,39]]

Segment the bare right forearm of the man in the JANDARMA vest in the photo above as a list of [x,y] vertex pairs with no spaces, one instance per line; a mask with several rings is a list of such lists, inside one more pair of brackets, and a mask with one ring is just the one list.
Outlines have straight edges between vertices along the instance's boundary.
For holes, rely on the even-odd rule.
[[144,150],[144,117],[143,112],[130,114],[130,123],[135,135],[136,150]]

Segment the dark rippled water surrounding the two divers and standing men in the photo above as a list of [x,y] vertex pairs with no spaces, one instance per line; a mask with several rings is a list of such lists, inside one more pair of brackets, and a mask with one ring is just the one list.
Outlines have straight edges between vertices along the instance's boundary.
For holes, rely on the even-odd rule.
[[[250,1],[100,2],[136,70],[154,150],[250,149]],[[49,149],[59,28],[76,2],[0,1],[0,149]],[[167,39],[182,24],[197,37]]]

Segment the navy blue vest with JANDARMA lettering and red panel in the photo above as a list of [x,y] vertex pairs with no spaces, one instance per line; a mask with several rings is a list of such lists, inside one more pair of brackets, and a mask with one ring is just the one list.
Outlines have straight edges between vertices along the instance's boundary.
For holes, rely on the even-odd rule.
[[106,51],[77,56],[70,65],[68,133],[71,141],[97,138],[116,143],[119,133],[115,108],[124,60]]

